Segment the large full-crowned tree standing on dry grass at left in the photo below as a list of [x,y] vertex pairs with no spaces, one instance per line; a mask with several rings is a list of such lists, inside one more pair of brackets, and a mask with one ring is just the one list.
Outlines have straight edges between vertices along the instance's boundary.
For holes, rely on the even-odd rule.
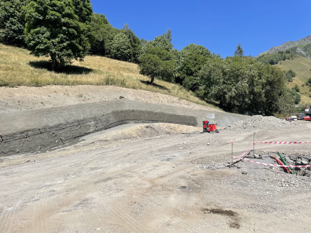
[[[81,20],[88,18],[83,12]],[[89,13],[86,11],[86,14]],[[88,24],[75,14],[71,0],[36,0],[25,7],[25,34],[30,53],[50,56],[52,69],[83,61],[89,50]]]

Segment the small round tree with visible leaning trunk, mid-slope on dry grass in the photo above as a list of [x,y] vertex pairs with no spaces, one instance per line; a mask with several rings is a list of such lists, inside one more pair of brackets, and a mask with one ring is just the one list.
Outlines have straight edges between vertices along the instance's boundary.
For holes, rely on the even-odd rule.
[[155,78],[172,81],[175,68],[174,55],[161,47],[150,43],[144,46],[144,53],[139,57],[139,73],[150,77],[150,84]]

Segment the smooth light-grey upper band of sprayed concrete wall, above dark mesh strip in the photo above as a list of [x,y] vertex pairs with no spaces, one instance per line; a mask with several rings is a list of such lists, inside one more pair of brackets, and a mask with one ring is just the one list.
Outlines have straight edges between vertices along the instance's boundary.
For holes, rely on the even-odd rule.
[[[197,126],[202,126],[202,120],[209,120],[211,122],[218,123],[218,126],[220,127],[225,127],[232,122],[249,118],[249,116],[233,113],[212,112],[123,99],[1,114],[0,134],[11,134],[24,130],[74,121],[79,118],[83,119],[95,116],[109,115],[111,112],[125,112],[127,110],[152,111],[157,113],[161,112],[164,114],[172,113],[176,115],[194,116],[197,117]],[[124,117],[127,118],[127,116]],[[174,119],[171,119],[171,121],[173,120]]]

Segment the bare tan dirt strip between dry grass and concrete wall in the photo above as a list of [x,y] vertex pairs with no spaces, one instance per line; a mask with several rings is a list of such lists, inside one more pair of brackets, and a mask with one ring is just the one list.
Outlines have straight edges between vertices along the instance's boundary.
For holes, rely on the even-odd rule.
[[125,98],[146,103],[221,112],[217,108],[191,103],[174,96],[117,86],[0,87],[0,114],[31,109],[94,103]]

